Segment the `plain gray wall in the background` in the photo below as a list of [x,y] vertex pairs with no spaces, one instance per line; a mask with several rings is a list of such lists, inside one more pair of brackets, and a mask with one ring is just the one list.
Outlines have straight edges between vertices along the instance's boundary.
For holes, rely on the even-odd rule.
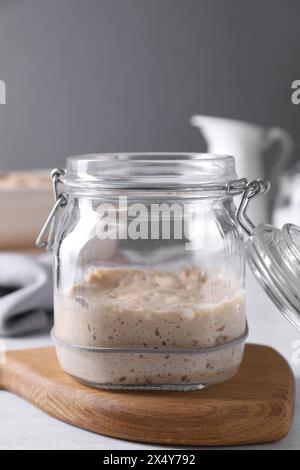
[[299,140],[299,18],[298,0],[0,0],[0,168],[203,150],[194,113]]

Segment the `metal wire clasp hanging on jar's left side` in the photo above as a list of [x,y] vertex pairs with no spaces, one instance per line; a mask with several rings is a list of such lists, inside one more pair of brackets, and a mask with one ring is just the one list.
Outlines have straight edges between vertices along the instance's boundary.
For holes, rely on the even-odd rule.
[[60,168],[55,168],[51,172],[55,204],[36,239],[35,245],[38,248],[52,249],[59,208],[64,207],[68,202],[67,194],[59,191],[59,185],[63,184],[62,177],[64,174],[65,171]]

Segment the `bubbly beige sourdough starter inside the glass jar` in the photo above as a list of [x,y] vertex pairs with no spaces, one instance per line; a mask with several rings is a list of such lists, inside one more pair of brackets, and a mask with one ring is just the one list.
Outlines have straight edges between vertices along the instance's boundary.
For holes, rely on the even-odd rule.
[[[226,343],[243,336],[245,328],[243,291],[235,282],[209,277],[196,267],[183,268],[178,275],[96,269],[55,298],[61,365],[99,386],[223,382],[237,371],[244,348],[243,342]],[[138,351],[95,352],[76,345]]]

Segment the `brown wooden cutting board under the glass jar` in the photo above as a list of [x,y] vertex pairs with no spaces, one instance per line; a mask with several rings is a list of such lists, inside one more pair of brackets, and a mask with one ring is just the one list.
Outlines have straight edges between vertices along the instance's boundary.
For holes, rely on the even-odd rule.
[[148,443],[241,445],[273,442],[289,431],[294,377],[285,359],[247,345],[229,382],[193,392],[105,391],[59,367],[53,348],[7,353],[0,387],[49,415],[99,434]]

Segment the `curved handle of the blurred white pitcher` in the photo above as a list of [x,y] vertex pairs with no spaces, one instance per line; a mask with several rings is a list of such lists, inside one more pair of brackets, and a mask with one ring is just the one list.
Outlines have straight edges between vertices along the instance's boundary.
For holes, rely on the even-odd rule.
[[271,127],[271,129],[267,131],[267,146],[269,147],[273,143],[279,143],[280,145],[278,157],[270,176],[272,183],[276,183],[277,176],[292,156],[294,141],[290,134],[285,130],[280,127]]

